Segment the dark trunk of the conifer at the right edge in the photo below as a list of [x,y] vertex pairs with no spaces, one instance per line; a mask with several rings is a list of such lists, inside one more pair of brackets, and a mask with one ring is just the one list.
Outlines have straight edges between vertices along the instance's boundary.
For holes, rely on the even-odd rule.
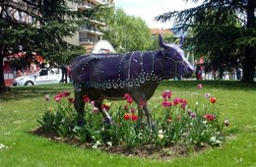
[[[247,24],[246,28],[256,28],[256,18],[254,11],[256,9],[256,1],[248,0],[246,14],[247,14]],[[244,50],[244,60],[243,60],[243,83],[253,83],[256,57],[255,48],[247,46]]]

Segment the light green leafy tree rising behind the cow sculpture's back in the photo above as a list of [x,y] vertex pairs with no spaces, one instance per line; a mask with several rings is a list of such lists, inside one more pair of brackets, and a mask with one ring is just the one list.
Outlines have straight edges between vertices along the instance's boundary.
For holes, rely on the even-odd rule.
[[107,39],[117,52],[149,49],[152,43],[150,29],[141,18],[129,16],[122,9],[112,9],[105,16],[103,38]]

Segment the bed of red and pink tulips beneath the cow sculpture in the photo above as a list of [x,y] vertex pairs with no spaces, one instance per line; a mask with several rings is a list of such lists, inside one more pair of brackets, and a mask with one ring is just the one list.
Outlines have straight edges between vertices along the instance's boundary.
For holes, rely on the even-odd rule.
[[[202,84],[198,84],[199,96],[202,88]],[[45,95],[45,112],[38,122],[46,133],[89,142],[94,148],[220,145],[224,142],[224,127],[229,122],[220,118],[217,98],[210,93],[204,95],[205,103],[197,101],[192,106],[186,99],[174,96],[170,90],[164,90],[156,108],[160,114],[154,115],[154,128],[149,127],[143,120],[139,121],[137,105],[129,94],[125,94],[126,101],[118,107],[112,107],[109,102],[102,105],[111,120],[103,119],[94,101],[84,96],[86,125],[80,127],[77,122],[78,114],[73,107],[74,98],[70,97],[70,92],[63,91],[54,96],[56,107],[48,106],[51,98]],[[145,102],[141,101],[139,107],[144,105]]]

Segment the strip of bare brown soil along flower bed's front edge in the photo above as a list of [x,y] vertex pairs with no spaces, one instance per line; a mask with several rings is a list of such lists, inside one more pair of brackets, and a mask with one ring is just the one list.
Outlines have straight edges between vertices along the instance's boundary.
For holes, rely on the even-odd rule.
[[[52,134],[43,131],[41,128],[32,131],[33,135],[51,139],[58,142],[65,142],[67,144],[72,144],[85,149],[93,149],[93,143],[90,141],[81,142],[79,139],[75,138],[61,138],[57,134]],[[206,145],[201,145],[194,150],[189,150],[188,147],[184,145],[173,145],[168,147],[156,147],[153,144],[137,146],[137,147],[125,147],[122,145],[115,146],[98,146],[97,149],[105,151],[108,153],[119,154],[131,157],[140,158],[150,158],[155,160],[171,160],[174,157],[186,157],[191,153],[191,151],[203,151],[207,148]]]

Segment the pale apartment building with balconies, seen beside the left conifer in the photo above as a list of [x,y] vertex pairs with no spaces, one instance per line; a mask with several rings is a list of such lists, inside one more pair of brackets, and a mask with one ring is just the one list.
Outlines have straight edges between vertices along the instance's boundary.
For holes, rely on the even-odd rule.
[[[74,10],[88,10],[95,8],[97,5],[114,6],[114,0],[83,0],[80,3],[69,3],[70,8]],[[104,27],[104,23],[89,20],[87,24],[81,26],[80,30],[72,38],[65,38],[71,44],[81,45],[91,53],[96,42],[102,39],[103,33],[98,29]]]

